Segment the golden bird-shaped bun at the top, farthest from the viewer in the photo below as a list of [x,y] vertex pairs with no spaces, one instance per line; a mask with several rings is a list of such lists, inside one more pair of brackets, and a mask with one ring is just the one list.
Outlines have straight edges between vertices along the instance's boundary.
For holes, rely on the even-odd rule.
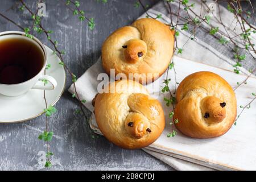
[[[143,84],[160,77],[168,68],[174,50],[174,31],[151,18],[136,20],[131,26],[114,31],[102,46],[102,65]],[[130,77],[129,79],[133,79]]]

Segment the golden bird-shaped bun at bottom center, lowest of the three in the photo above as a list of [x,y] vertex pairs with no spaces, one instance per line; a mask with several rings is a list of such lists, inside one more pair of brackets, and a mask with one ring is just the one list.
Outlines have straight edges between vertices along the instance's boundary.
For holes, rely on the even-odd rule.
[[146,147],[164,129],[164,113],[159,101],[133,80],[112,82],[104,93],[97,94],[94,114],[102,134],[123,148]]

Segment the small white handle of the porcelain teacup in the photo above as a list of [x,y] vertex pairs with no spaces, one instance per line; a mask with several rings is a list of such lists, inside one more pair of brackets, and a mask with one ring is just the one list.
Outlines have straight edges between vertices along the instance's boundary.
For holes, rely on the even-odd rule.
[[[42,85],[39,84],[39,82],[42,82],[44,80],[48,81],[48,84]],[[32,89],[39,89],[39,90],[54,90],[57,86],[57,81],[55,78],[49,75],[43,75],[39,78],[38,82],[32,87]]]

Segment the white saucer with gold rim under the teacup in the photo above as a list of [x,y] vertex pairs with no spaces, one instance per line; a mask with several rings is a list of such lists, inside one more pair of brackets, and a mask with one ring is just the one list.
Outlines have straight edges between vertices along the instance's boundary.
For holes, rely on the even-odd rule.
[[[57,81],[57,87],[54,90],[46,91],[47,104],[55,105],[64,92],[66,74],[60,59],[53,51],[46,47],[47,64],[51,64],[51,68],[46,71],[46,75],[50,75]],[[26,94],[18,97],[7,97],[0,94],[0,123],[23,122],[32,118],[36,118],[44,113],[46,105],[43,98],[43,90],[31,89]]]

